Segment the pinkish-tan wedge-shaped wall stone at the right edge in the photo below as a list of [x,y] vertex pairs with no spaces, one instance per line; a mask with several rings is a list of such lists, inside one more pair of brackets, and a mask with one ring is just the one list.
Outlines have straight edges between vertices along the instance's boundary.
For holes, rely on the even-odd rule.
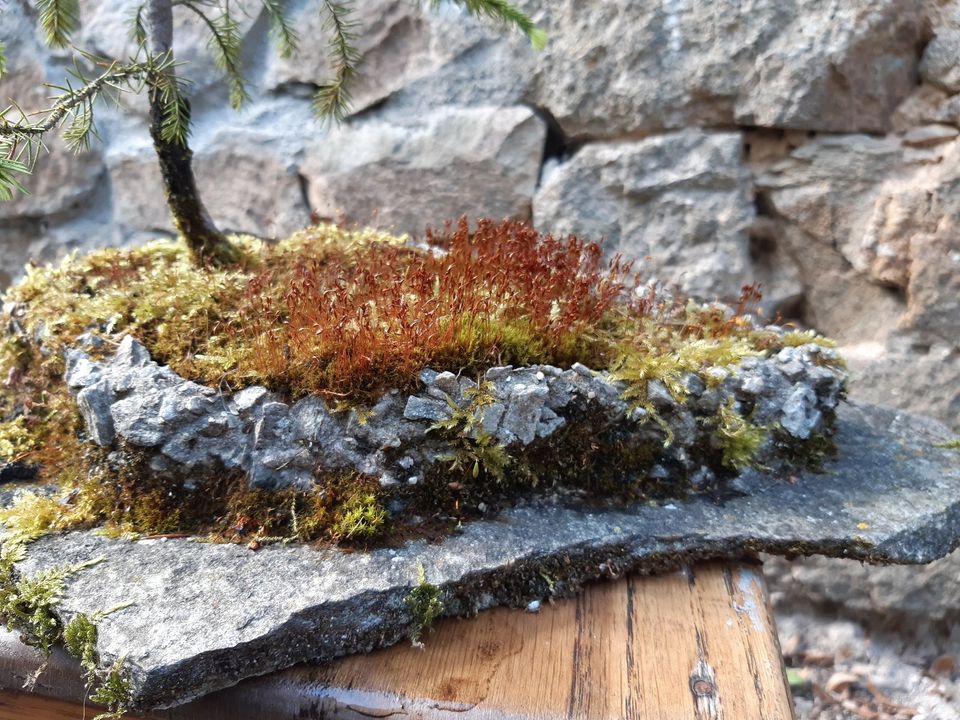
[[[924,286],[923,292],[911,289],[908,295],[911,315],[905,323],[914,327],[914,316],[952,294],[954,189],[960,182],[960,147],[954,137],[956,128],[922,126],[904,138],[912,145],[943,145],[943,162],[935,165],[917,162],[896,138],[818,139],[762,171],[757,187],[768,212],[814,241],[839,249],[873,282],[902,289]],[[933,257],[938,258],[938,274],[924,280]],[[951,312],[949,303],[944,310]]]

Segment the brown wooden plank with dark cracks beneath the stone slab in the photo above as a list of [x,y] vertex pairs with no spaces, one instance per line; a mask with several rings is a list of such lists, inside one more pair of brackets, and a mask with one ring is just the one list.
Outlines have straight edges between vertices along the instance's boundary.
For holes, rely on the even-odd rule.
[[[293,668],[151,717],[794,718],[755,565],[600,583],[539,614],[497,609],[447,620],[425,641],[423,650],[397,646]],[[29,714],[16,704],[22,696],[0,696],[0,720],[69,717],[28,699]]]

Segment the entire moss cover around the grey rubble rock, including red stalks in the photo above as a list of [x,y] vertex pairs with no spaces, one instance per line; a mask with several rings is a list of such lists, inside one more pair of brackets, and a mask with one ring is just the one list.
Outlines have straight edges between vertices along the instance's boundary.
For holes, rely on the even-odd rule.
[[[198,266],[184,244],[163,240],[31,267],[7,292],[0,459],[8,472],[33,471],[59,487],[21,494],[2,512],[8,526],[28,534],[97,526],[115,535],[198,533],[252,546],[366,545],[445,532],[476,512],[468,508],[534,490],[579,488],[618,502],[683,494],[685,473],[660,470],[675,431],[664,403],[696,400],[704,440],[689,452],[711,473],[729,475],[754,464],[761,447],[786,446],[786,436],[757,422],[751,403],[727,398],[706,407],[691,388],[721,387],[748,360],[793,348],[819,346],[817,362],[841,362],[815,333],[753,322],[753,288],[738,311],[668,299],[595,244],[523,223],[461,221],[419,245],[334,226],[277,243],[232,242],[239,255],[230,266]],[[456,402],[441,393],[446,400],[424,435],[439,443],[437,461],[409,482],[400,478],[402,491],[346,465],[317,467],[309,487],[255,487],[236,468],[185,477],[155,472],[156,457],[123,437],[109,447],[91,442],[66,387],[68,350],[107,362],[128,335],[152,360],[219,397],[253,386],[287,403],[315,396],[331,417],[368,432],[378,427],[381,399],[422,391],[424,372],[452,373],[466,385]],[[611,420],[609,409],[584,400],[577,422],[557,418],[555,432],[508,442],[490,426],[505,400],[484,379],[504,366],[592,368],[620,388],[623,416]],[[391,455],[395,446],[386,438],[378,452],[403,465]],[[791,453],[803,459],[796,447]],[[417,529],[411,517],[420,519]]]

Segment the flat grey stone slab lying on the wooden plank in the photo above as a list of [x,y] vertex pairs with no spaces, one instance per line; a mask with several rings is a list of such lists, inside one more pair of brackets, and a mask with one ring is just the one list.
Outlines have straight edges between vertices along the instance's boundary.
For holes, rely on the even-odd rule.
[[602,512],[518,507],[439,544],[363,555],[70,533],[31,545],[18,570],[103,557],[68,581],[58,612],[69,619],[132,602],[101,621],[101,662],[126,657],[136,704],[172,705],[297,662],[396,642],[410,628],[404,598],[418,563],[445,611],[461,614],[549,595],[544,567],[556,579],[552,591],[567,594],[605,573],[746,550],[929,562],[960,539],[960,466],[953,451],[933,447],[948,436],[932,421],[843,407],[842,452],[826,474],[786,482],[751,472],[749,494],[722,504],[695,496]]

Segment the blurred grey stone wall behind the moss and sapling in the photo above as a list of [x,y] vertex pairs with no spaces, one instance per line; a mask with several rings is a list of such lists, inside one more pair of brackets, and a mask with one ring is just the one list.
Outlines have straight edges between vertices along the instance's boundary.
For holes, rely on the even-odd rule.
[[[469,215],[532,219],[645,259],[704,298],[760,281],[766,309],[839,338],[854,394],[960,427],[960,2],[524,0],[543,52],[411,0],[366,0],[364,74],[341,127],[317,123],[322,18],[291,0],[289,60],[244,19],[253,101],[226,90],[194,20],[193,145],[232,230],[314,219],[420,233]],[[131,4],[82,0],[80,46],[129,49]],[[253,8],[257,3],[248,3]],[[5,0],[0,97],[37,103],[64,56]],[[0,205],[0,281],[27,260],[170,232],[142,100],[103,108],[103,142],[50,143]]]

